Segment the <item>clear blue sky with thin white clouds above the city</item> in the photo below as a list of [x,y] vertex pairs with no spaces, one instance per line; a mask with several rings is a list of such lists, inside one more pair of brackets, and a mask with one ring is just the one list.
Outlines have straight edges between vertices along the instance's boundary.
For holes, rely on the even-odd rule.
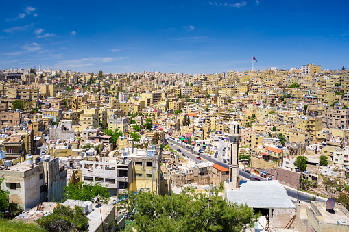
[[349,68],[347,1],[2,1],[0,68]]

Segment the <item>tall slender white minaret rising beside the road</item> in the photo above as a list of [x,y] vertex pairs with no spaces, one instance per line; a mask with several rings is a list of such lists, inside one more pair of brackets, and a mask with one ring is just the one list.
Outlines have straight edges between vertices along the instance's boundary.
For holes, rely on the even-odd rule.
[[239,177],[239,143],[240,143],[239,123],[232,122],[230,125],[230,133],[228,133],[229,146],[229,188],[240,188]]

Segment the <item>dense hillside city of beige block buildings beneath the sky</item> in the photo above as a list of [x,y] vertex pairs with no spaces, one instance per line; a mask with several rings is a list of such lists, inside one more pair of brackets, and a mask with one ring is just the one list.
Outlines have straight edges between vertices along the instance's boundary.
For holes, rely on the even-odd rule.
[[[348,229],[345,67],[194,75],[39,65],[0,78],[1,188],[23,210],[15,220],[36,221],[64,200],[86,205],[89,230],[114,220],[109,229],[121,229],[137,218],[121,206],[134,204],[129,194],[191,188],[247,204],[259,229]],[[309,217],[318,214],[316,224]]]

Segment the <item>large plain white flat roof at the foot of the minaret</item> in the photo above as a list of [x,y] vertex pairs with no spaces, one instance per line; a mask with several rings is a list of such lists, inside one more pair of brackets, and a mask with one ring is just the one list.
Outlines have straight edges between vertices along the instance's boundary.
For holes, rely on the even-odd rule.
[[230,202],[252,208],[296,208],[278,181],[248,181],[240,185],[240,190],[226,190],[226,196]]

